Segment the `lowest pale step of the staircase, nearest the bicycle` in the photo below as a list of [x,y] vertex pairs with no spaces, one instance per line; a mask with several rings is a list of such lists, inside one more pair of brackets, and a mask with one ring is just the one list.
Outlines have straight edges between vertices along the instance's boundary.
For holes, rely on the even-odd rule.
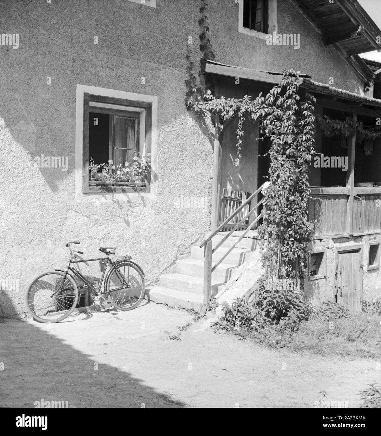
[[200,310],[203,307],[202,295],[165,288],[163,286],[152,286],[150,289],[147,289],[146,298],[154,303],[184,307],[185,309]]

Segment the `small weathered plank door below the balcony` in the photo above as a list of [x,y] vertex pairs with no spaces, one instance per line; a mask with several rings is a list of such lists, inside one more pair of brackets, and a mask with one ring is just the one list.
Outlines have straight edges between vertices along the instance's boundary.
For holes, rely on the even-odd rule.
[[335,277],[337,303],[360,312],[363,303],[363,272],[360,252],[338,253]]

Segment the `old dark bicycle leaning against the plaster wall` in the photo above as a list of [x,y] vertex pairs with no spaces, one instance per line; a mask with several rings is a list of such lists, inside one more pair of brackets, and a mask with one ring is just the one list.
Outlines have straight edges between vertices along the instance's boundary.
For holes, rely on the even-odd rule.
[[[80,288],[89,288],[94,301],[102,299],[107,303],[110,300],[119,310],[132,310],[139,305],[144,297],[145,276],[141,267],[130,260],[131,256],[120,256],[113,262],[110,255],[115,254],[116,248],[100,247],[99,250],[106,255],[105,257],[81,259],[77,253],[83,252],[72,249],[72,244],[79,242],[66,244],[70,250],[66,269],[44,272],[33,280],[27,290],[26,306],[35,320],[41,323],[58,323],[67,318],[79,303]],[[95,261],[100,262],[102,277],[99,285],[95,282],[93,286],[72,264]],[[107,266],[110,266],[110,269],[105,276]],[[77,278],[84,285],[79,286]]]

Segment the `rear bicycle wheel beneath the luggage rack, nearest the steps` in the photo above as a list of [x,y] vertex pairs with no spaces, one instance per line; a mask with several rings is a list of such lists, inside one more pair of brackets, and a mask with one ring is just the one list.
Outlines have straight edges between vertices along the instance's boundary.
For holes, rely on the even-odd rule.
[[130,262],[120,262],[110,269],[105,290],[114,307],[119,310],[132,310],[143,300],[144,276]]

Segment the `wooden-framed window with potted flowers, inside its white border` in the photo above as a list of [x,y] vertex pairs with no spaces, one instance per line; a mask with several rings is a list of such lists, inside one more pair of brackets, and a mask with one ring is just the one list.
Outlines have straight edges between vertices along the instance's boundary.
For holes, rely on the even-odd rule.
[[84,93],[84,193],[150,191],[151,113],[148,102]]

